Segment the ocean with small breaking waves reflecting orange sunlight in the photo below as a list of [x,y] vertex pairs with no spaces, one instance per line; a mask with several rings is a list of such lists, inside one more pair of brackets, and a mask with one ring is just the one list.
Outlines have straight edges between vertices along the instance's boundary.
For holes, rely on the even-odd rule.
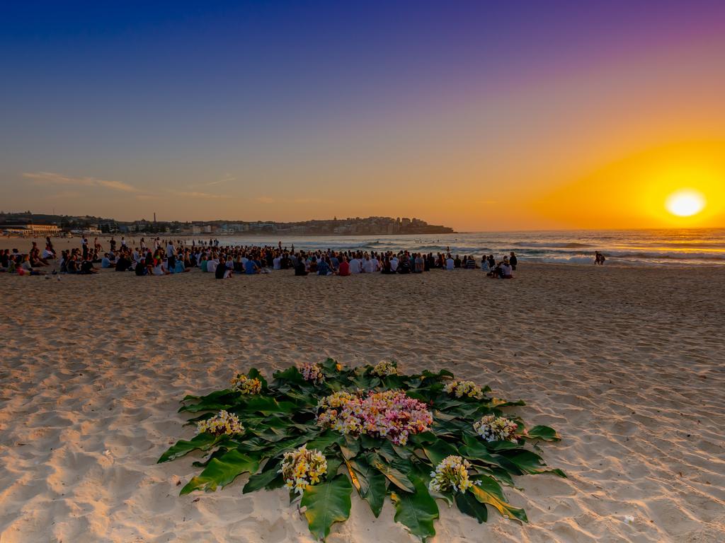
[[[204,239],[202,235],[196,239]],[[208,237],[205,238],[208,240]],[[725,265],[725,229],[692,230],[558,230],[472,232],[433,235],[286,236],[231,235],[220,239],[230,245],[294,244],[296,249],[360,249],[408,251],[460,256],[493,254],[500,258],[515,251],[520,261],[591,264],[601,251],[607,264],[625,266]],[[191,243],[191,240],[188,240]]]

